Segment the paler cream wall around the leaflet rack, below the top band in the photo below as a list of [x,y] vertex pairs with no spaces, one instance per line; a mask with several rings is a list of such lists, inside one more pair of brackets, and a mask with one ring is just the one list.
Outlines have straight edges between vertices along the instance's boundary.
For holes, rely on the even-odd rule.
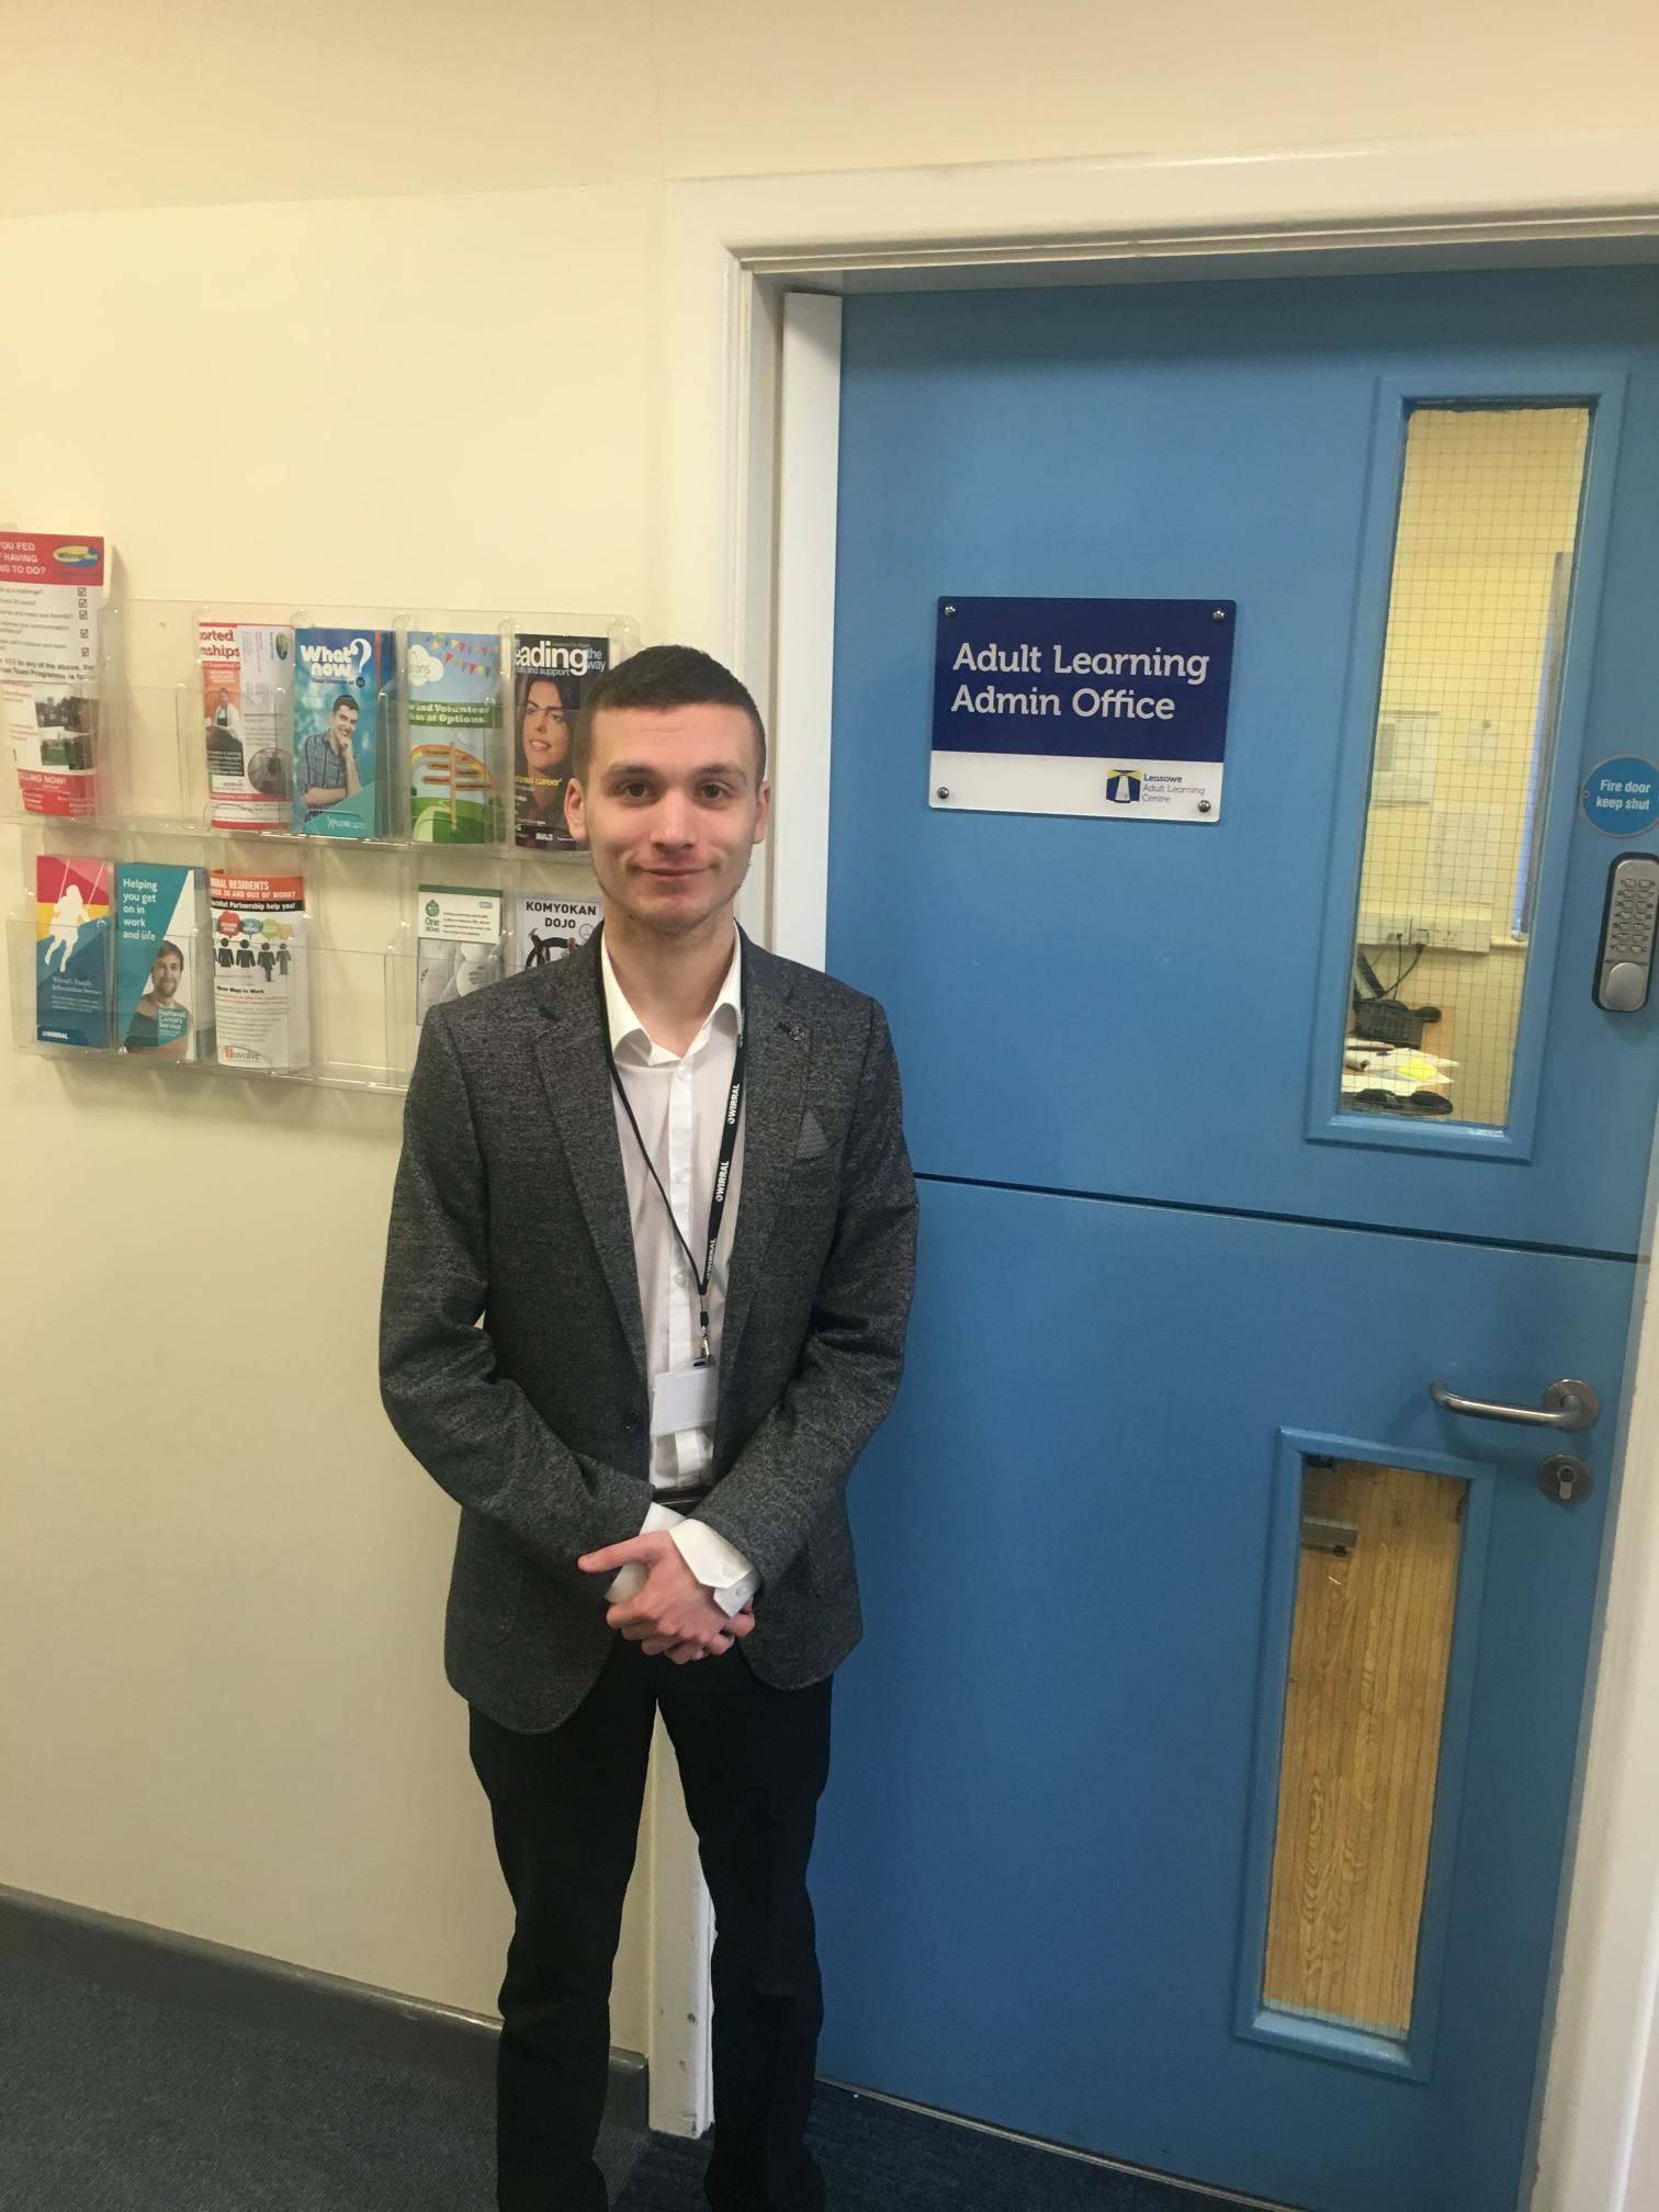
[[[4,223],[4,513],[104,529],[148,599],[639,613],[657,212]],[[0,1130],[0,1882],[491,2008],[456,1515],[374,1383],[396,1104],[4,1053]]]

